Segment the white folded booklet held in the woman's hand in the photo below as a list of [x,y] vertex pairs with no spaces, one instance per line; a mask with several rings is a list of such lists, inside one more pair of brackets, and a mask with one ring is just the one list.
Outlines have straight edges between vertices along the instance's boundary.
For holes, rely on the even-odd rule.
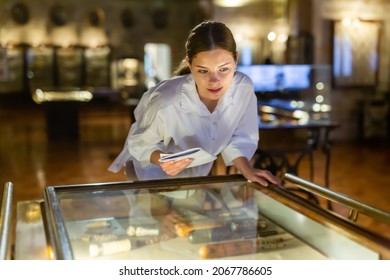
[[166,162],[169,160],[179,160],[183,158],[192,158],[192,162],[189,167],[202,165],[208,162],[214,161],[217,157],[209,154],[202,148],[192,148],[185,151],[181,151],[175,154],[160,154],[160,162]]

